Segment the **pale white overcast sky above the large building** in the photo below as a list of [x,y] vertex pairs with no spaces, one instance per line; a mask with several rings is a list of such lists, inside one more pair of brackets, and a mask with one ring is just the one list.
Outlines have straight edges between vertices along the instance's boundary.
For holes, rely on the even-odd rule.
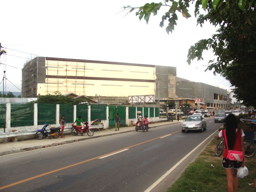
[[190,46],[210,38],[217,28],[210,23],[203,28],[196,26],[193,5],[189,9],[192,17],[186,19],[177,13],[177,26],[170,35],[165,31],[167,22],[159,27],[166,7],[156,16],[152,14],[148,25],[135,12],[126,15],[127,11],[122,11],[127,5],[139,7],[151,2],[2,1],[0,43],[7,53],[0,58],[0,76],[5,70],[6,90],[19,92],[24,63],[43,56],[172,66],[177,68],[178,77],[230,91],[230,83],[223,77],[204,72],[204,65],[214,59],[211,50],[203,52],[204,60],[194,60],[191,65],[186,62]]

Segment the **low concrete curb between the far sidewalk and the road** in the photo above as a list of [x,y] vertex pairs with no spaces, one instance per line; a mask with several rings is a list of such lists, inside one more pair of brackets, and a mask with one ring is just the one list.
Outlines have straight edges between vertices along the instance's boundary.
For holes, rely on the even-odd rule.
[[[178,124],[179,122],[175,122],[172,124]],[[158,126],[153,126],[153,127],[148,127],[150,128],[155,128],[155,127],[161,127],[161,126],[166,126],[165,125],[158,125]],[[73,139],[73,140],[67,140],[67,141],[60,141],[58,143],[52,143],[52,144],[48,144],[48,145],[39,145],[39,146],[33,146],[33,147],[28,147],[28,148],[21,148],[21,149],[15,149],[15,150],[10,150],[10,151],[4,151],[0,153],[0,156],[4,156],[4,155],[10,155],[13,153],[19,153],[19,152],[24,152],[24,151],[31,151],[31,150],[35,150],[35,149],[41,149],[41,148],[47,148],[47,147],[53,147],[53,146],[58,146],[58,145],[64,145],[64,144],[68,144],[68,143],[74,143],[74,142],[78,142],[78,141],[84,141],[84,140],[89,140],[89,139],[95,139],[95,138],[100,138],[100,137],[107,137],[107,136],[111,136],[111,135],[117,135],[117,134],[122,134],[122,133],[127,133],[127,132],[133,132],[135,131],[135,129],[129,130],[129,131],[124,131],[124,132],[114,132],[114,133],[109,133],[109,134],[105,134],[105,135],[98,135],[98,136],[94,136],[94,137],[85,137],[82,139]]]

